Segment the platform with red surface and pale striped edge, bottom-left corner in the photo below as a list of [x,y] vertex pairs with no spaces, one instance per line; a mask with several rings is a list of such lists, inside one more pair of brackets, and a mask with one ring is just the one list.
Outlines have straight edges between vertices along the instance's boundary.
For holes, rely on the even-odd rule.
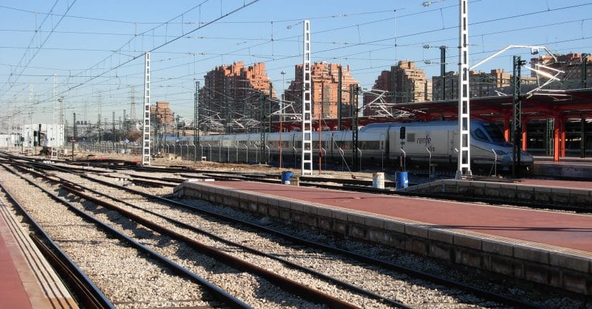
[[28,233],[2,201],[0,308],[78,308]]

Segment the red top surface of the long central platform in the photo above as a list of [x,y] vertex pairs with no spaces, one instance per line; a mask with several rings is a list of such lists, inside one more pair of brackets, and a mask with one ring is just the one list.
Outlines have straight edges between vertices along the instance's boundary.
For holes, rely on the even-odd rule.
[[590,215],[259,182],[208,184],[592,252]]

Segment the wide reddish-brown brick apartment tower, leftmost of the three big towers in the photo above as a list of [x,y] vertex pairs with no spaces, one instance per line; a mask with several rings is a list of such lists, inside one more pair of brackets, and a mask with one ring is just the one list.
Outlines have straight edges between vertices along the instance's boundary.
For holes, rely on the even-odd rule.
[[[233,120],[258,119],[263,96],[270,95],[265,63],[245,67],[245,63],[239,61],[230,66],[217,66],[204,80],[205,85],[200,90],[200,123],[214,119],[215,123],[210,122],[206,128],[209,131],[234,132]],[[271,96],[276,98],[274,93]]]

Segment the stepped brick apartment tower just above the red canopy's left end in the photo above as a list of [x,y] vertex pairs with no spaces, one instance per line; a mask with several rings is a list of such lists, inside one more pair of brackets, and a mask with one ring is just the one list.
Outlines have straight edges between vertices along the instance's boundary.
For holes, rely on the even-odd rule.
[[[391,70],[383,70],[372,89],[392,93],[388,103],[424,102],[432,100],[432,80],[413,61],[399,61]],[[372,102],[372,96],[364,97],[364,105]],[[364,115],[377,115],[373,108],[364,109]]]

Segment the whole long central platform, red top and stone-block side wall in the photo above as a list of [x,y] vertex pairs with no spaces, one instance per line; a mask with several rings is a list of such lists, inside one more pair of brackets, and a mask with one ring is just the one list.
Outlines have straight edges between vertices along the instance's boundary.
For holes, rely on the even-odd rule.
[[590,215],[259,182],[190,179],[174,193],[592,295]]

